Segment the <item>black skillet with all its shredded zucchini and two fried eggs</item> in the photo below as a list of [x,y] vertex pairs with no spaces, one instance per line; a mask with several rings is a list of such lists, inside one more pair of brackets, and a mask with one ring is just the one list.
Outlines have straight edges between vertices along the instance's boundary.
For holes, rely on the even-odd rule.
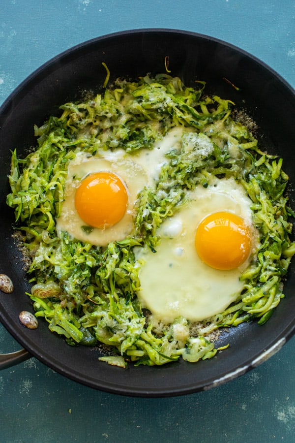
[[[102,106],[103,113],[95,114]],[[127,108],[129,120],[122,123]],[[13,283],[11,293],[1,292],[0,318],[28,351],[2,355],[2,367],[33,355],[94,388],[168,396],[232,380],[279,350],[295,324],[294,115],[295,93],[271,68],[236,47],[191,32],[99,37],[34,72],[0,112],[0,273]],[[67,154],[60,156],[65,139]],[[59,155],[54,153],[47,170],[45,157],[54,149]],[[147,163],[140,153],[148,149],[156,156],[149,155]],[[41,151],[36,160],[34,153]],[[116,180],[122,178],[116,182],[122,194],[116,209],[127,207],[132,217],[126,224],[125,216],[116,219],[112,210],[111,220],[101,225],[87,214],[79,192],[83,197],[82,184],[93,173],[104,171],[105,179],[107,170],[110,180],[114,168]],[[55,180],[47,181],[50,192],[34,206],[42,174]],[[51,215],[46,210],[50,193]],[[125,203],[127,193],[127,201],[136,202],[135,212]],[[231,225],[236,214],[244,221],[252,217],[249,226],[238,225],[241,261],[235,258],[224,267],[224,248],[235,249],[232,235],[222,243],[218,234],[211,253],[208,244],[202,249],[209,225],[202,233],[200,227],[212,213],[219,217],[215,226],[229,213]],[[186,214],[193,219],[187,222]],[[117,229],[122,223],[112,237],[113,225]],[[194,258],[182,261],[194,223],[200,263],[195,248],[188,254]],[[29,275],[16,227],[26,233],[29,259],[34,257]],[[67,268],[68,245],[75,248],[75,266]],[[176,257],[167,258],[163,245]],[[177,267],[186,270],[184,280]],[[87,280],[90,268],[95,273]],[[237,286],[228,286],[232,274]],[[204,290],[209,280],[218,288],[211,295]],[[178,294],[185,285],[183,303]],[[242,295],[227,298],[237,290]],[[21,312],[34,313],[38,327],[25,327]]]

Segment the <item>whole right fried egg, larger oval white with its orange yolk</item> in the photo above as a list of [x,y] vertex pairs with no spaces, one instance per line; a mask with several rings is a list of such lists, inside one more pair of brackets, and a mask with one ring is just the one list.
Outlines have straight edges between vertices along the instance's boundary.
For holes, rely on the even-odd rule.
[[234,179],[197,186],[166,219],[156,253],[138,249],[138,298],[153,317],[199,321],[224,311],[243,288],[239,277],[259,244],[251,200]]

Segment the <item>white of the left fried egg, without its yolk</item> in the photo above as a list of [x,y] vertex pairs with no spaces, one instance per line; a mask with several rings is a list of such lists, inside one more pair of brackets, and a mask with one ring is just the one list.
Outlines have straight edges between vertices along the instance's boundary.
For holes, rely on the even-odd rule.
[[[168,162],[165,154],[172,148],[180,148],[182,133],[182,128],[174,128],[157,141],[153,149],[142,149],[134,154],[126,154],[122,149],[100,149],[95,156],[79,152],[68,164],[64,201],[56,225],[58,235],[66,231],[71,238],[96,246],[107,246],[110,242],[126,238],[134,228],[138,193],[145,186],[155,185],[161,167]],[[83,228],[85,222],[75,208],[75,192],[83,178],[99,171],[113,172],[124,182],[128,191],[128,205],[123,218],[115,225],[86,232]]]

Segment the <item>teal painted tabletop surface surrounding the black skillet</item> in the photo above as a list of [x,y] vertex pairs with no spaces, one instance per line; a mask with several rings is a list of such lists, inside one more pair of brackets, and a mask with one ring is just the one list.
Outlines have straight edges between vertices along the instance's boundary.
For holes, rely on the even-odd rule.
[[[295,87],[295,1],[1,0],[0,104],[32,71],[82,41],[138,28],[225,40]],[[283,110],[282,110],[283,112]],[[0,325],[0,352],[20,346]],[[295,338],[223,386],[182,397],[108,394],[35,358],[0,372],[0,442],[295,442]]]

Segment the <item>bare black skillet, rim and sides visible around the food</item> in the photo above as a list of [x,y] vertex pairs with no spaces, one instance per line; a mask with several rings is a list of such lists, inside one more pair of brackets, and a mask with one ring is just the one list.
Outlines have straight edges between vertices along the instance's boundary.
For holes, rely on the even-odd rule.
[[[23,310],[33,312],[21,255],[11,234],[13,212],[6,207],[10,150],[18,155],[35,145],[33,125],[41,125],[59,105],[81,96],[84,90],[101,91],[106,70],[110,81],[118,76],[136,79],[148,72],[165,72],[169,57],[171,75],[188,86],[207,82],[207,93],[230,98],[256,121],[262,149],[284,158],[290,176],[290,194],[295,184],[295,91],[271,68],[244,51],[214,38],[174,30],[119,32],[82,43],[45,63],[29,76],[0,109],[0,273],[14,283],[14,292],[0,292],[0,320],[27,350],[0,356],[7,367],[35,356],[60,374],[108,392],[164,397],[209,389],[240,376],[279,350],[295,330],[295,262],[289,269],[283,299],[263,326],[245,323],[223,334],[220,345],[230,347],[213,359],[196,364],[179,361],[163,367],[133,367],[126,370],[98,361],[97,349],[68,346],[49,332],[45,321],[36,330],[24,327]],[[167,60],[167,59],[166,59]],[[236,86],[236,89],[234,86]],[[293,196],[290,195],[293,204]],[[294,207],[294,205],[293,205]]]

